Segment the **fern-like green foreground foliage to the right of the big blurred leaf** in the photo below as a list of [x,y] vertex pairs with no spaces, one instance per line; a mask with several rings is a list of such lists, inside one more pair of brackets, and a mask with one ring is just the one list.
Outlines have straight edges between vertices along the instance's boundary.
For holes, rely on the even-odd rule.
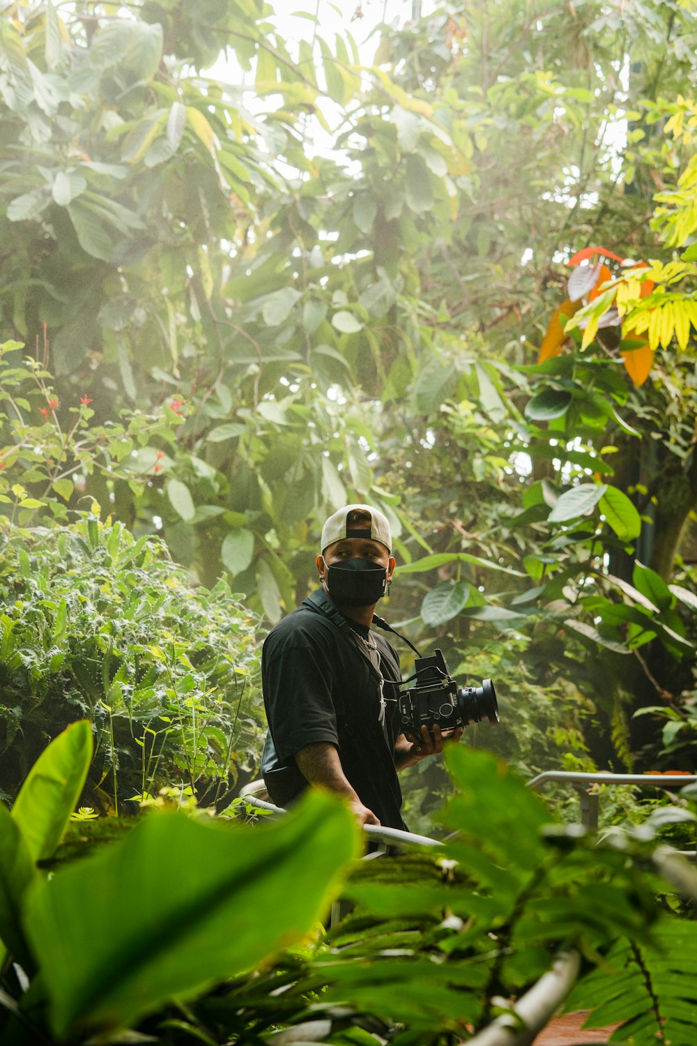
[[[597,845],[578,826],[550,824],[541,801],[490,755],[454,748],[448,763],[457,793],[443,821],[457,838],[438,859],[402,854],[354,867],[343,891],[353,907],[339,926],[193,1003],[189,1029],[213,1042],[462,1042],[506,1011],[504,1000],[558,948],[581,949],[608,992],[606,953],[620,942],[653,949],[664,924],[646,874],[649,833]],[[693,924],[666,919],[691,951]],[[689,993],[687,975],[683,983]]]

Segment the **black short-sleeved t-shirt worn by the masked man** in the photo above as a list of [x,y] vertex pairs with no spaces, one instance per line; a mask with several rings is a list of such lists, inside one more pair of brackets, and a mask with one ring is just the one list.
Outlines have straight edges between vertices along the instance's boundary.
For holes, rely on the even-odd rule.
[[[262,773],[269,794],[286,806],[307,781],[295,761],[305,745],[328,742],[339,750],[346,777],[380,823],[403,828],[401,792],[394,746],[401,732],[399,685],[384,683],[380,722],[379,679],[358,649],[349,624],[334,623],[316,604],[335,615],[322,589],[312,593],[269,633],[261,654],[261,681],[269,720]],[[365,637],[368,629],[351,621]],[[370,633],[385,680],[400,680],[399,658],[379,634]]]

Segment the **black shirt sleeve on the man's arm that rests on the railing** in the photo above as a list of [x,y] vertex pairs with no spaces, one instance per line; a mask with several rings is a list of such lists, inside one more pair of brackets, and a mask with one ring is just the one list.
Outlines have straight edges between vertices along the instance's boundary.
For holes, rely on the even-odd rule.
[[261,678],[269,729],[281,761],[319,742],[339,749],[333,670],[320,650],[310,645],[275,650],[264,644]]

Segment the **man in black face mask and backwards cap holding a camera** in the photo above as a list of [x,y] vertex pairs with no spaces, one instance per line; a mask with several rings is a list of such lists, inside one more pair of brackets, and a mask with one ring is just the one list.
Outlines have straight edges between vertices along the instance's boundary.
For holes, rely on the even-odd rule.
[[394,568],[387,517],[347,505],[322,529],[322,587],[264,641],[261,772],[278,805],[318,784],[343,795],[359,824],[403,828],[397,771],[442,751],[438,725],[401,732],[399,658],[370,628]]

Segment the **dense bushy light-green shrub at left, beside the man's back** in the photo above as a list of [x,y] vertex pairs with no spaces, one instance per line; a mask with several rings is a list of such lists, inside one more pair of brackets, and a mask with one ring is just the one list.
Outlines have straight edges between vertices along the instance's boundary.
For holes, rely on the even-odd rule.
[[255,618],[225,581],[191,589],[157,538],[82,514],[57,528],[0,519],[0,789],[88,718],[86,801],[102,810],[184,783],[223,802],[263,738]]

